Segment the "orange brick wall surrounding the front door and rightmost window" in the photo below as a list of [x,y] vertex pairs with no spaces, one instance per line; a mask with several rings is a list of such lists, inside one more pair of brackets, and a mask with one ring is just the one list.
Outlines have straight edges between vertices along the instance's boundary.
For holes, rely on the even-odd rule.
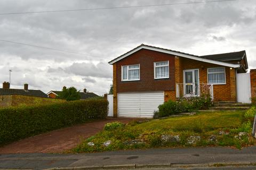
[[[205,63],[191,60],[188,58],[179,58],[180,68],[180,82],[183,82],[183,70],[199,69],[199,82],[207,83],[207,68],[223,67],[221,65]],[[215,101],[236,101],[236,78],[235,69],[230,70],[230,67],[225,67],[226,70],[226,84],[214,84],[214,100]]]

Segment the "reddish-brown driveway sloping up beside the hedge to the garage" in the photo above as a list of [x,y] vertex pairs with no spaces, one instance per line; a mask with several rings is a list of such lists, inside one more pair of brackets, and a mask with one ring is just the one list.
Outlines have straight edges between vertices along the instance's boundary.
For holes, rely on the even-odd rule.
[[7,153],[59,153],[74,148],[81,139],[88,138],[91,135],[101,131],[108,122],[119,121],[128,123],[132,118],[107,118],[90,123],[71,126],[34,137],[26,138],[10,145],[0,148],[0,154]]

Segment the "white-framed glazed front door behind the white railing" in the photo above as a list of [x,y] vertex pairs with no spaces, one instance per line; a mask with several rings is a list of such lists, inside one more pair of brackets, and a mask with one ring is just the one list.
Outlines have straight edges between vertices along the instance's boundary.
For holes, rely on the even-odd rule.
[[184,70],[184,96],[199,96],[199,70]]

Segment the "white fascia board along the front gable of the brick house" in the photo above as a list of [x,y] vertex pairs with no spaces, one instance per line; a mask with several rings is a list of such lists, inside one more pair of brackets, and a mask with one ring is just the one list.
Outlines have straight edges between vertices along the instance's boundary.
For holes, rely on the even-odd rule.
[[206,63],[212,63],[212,64],[217,64],[217,65],[223,65],[223,66],[227,66],[227,67],[233,67],[233,68],[238,68],[240,67],[240,64],[230,64],[230,63],[225,63],[225,62],[220,62],[220,61],[214,61],[214,60],[209,60],[209,59],[205,59],[205,58],[201,58],[201,57],[196,57],[196,56],[192,56],[192,55],[188,55],[188,54],[182,54],[182,53],[178,53],[178,52],[172,52],[170,50],[166,50],[166,49],[159,49],[159,48],[154,48],[154,47],[148,47],[148,46],[141,46],[137,49],[132,50],[131,52],[123,55],[122,57],[116,58],[116,60],[109,62],[109,64],[114,64],[115,62],[122,60],[123,58],[137,52],[140,49],[149,49],[149,50],[154,50],[156,52],[161,52],[161,53],[166,53],[166,54],[171,54],[171,55],[175,55],[175,56],[180,56],[180,57],[185,57],[185,58],[190,58],[192,60],[196,60],[196,61],[201,61],[201,62],[206,62]]

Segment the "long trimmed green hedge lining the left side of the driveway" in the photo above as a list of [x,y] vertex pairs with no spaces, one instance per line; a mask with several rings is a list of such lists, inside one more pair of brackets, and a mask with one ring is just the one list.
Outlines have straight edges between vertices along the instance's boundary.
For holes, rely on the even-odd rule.
[[43,132],[106,118],[108,101],[90,99],[0,109],[0,145]]

